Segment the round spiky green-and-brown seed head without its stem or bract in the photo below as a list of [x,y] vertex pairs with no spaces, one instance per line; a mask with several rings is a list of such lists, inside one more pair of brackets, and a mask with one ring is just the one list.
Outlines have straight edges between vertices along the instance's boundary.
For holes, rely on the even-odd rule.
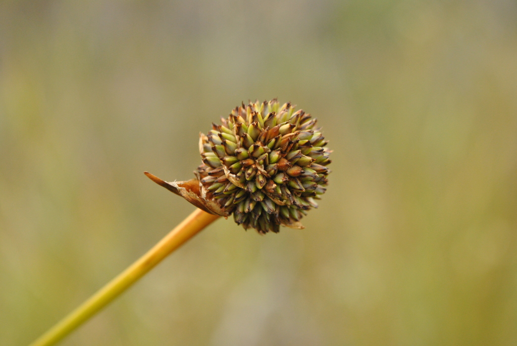
[[316,119],[294,109],[276,99],[242,103],[200,134],[201,188],[245,229],[302,228],[299,220],[325,193],[328,142]]

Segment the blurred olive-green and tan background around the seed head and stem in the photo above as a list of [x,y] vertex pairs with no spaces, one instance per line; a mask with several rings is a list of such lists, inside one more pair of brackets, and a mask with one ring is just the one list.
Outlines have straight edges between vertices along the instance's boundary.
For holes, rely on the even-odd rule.
[[62,344],[517,344],[510,0],[2,2],[0,344],[193,210],[143,171],[273,97],[334,150],[306,229],[218,220]]

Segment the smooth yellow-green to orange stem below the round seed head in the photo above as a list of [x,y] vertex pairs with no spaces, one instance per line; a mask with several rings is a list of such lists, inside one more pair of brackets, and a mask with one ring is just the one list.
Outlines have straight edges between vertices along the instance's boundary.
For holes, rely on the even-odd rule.
[[172,251],[218,218],[218,215],[208,214],[201,209],[196,209],[140,259],[29,346],[53,345],[67,336],[73,329],[80,326],[96,312],[108,305],[119,294],[128,289],[135,281],[149,272],[150,269],[160,263],[160,261],[167,257]]

